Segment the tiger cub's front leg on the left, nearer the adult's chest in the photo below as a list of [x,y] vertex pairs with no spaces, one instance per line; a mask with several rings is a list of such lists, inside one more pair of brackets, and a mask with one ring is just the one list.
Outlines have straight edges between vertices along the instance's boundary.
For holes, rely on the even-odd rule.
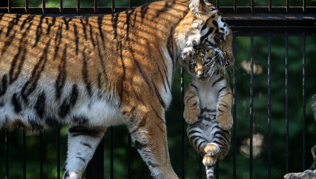
[[197,88],[191,83],[184,94],[184,112],[183,117],[188,124],[197,121],[200,114],[200,103]]

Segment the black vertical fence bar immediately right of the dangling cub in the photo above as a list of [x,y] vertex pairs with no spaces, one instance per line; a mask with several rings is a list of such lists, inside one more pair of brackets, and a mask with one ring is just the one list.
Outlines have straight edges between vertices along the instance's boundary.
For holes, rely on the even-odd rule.
[[237,107],[237,83],[236,83],[236,71],[237,71],[237,41],[236,35],[233,35],[233,53],[234,53],[234,63],[233,63],[233,179],[236,179],[236,154],[237,154],[237,118],[236,118],[236,107]]

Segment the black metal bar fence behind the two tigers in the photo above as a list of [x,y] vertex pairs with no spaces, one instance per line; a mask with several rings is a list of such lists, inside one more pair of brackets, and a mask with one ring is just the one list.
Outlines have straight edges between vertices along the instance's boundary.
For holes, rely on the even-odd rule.
[[[42,8],[29,7],[29,0],[25,0],[25,7],[16,8],[11,6],[11,1],[8,0],[8,7],[0,8],[0,13],[28,13],[28,14],[63,14],[63,16],[72,16],[73,14],[109,14],[112,12],[123,11],[126,9],[132,9],[133,0],[129,0],[128,7],[116,7],[115,0],[112,0],[112,7],[99,7],[97,0],[94,0],[93,7],[81,7],[80,0],[76,0],[76,7],[63,7],[63,0],[59,0],[59,8],[46,8],[45,0],[42,0]],[[148,2],[148,0],[146,0]],[[216,6],[224,14],[223,16],[228,21],[228,24],[231,25],[232,30],[235,32],[233,37],[233,53],[235,56],[234,65],[237,64],[237,45],[236,37],[237,36],[250,36],[250,119],[249,119],[249,138],[250,138],[250,159],[249,159],[249,178],[253,178],[253,157],[252,157],[252,137],[253,137],[253,94],[254,94],[254,36],[267,36],[268,37],[268,104],[267,104],[267,123],[268,123],[268,174],[267,178],[271,179],[271,38],[272,36],[282,36],[285,38],[285,163],[286,169],[285,172],[288,173],[288,146],[289,146],[289,109],[288,109],[288,37],[289,36],[301,36],[303,38],[303,56],[302,56],[302,98],[303,103],[303,119],[302,119],[302,166],[303,170],[307,168],[306,163],[306,36],[316,36],[316,7],[307,7],[306,0],[302,0],[301,7],[290,7],[289,0],[285,0],[284,7],[273,7],[272,0],[268,0],[267,7],[257,7],[254,3],[254,0],[251,0],[250,7],[240,7],[237,4],[237,0],[233,0],[233,6],[231,7],[221,7],[220,0],[216,0]],[[71,15],[72,14],[72,15]],[[308,14],[308,18],[306,18]],[[233,179],[236,179],[236,153],[237,153],[237,140],[236,140],[236,98],[237,98],[237,82],[236,82],[236,71],[233,71],[234,80],[233,80],[233,120],[234,125],[232,128],[232,152],[233,152]],[[183,99],[184,96],[184,70],[181,69],[181,96]],[[181,103],[181,110],[183,111],[183,103]],[[60,179],[60,129],[57,129],[57,179]],[[178,174],[181,179],[185,178],[185,151],[184,151],[184,140],[186,137],[185,132],[185,122],[181,121],[181,174]],[[113,127],[110,127],[110,178],[113,179]],[[8,131],[5,130],[5,177],[9,179],[9,147],[8,147]],[[128,178],[131,178],[131,138],[128,137]],[[103,179],[104,178],[104,141],[102,140],[98,146],[94,157],[89,162],[86,169],[86,178],[87,179]],[[40,133],[40,179],[43,179],[43,134]],[[26,179],[26,132],[23,131],[23,179]],[[201,160],[201,158],[200,158]],[[216,165],[215,173],[216,179],[219,178],[218,172],[219,166]],[[199,179],[202,178],[202,164],[199,164]],[[145,174],[145,176],[148,176]]]

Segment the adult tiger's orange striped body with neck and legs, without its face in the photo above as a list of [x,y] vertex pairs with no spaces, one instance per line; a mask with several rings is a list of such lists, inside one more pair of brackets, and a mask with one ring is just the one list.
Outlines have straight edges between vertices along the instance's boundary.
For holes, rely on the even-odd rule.
[[166,0],[89,18],[0,14],[0,127],[70,125],[63,178],[80,179],[106,128],[125,124],[151,175],[176,179],[164,118],[173,73],[215,13]]

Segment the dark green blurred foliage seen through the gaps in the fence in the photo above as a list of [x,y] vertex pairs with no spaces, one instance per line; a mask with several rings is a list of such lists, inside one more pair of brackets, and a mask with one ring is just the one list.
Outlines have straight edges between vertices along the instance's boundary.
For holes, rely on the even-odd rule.
[[[24,7],[24,0],[11,0],[12,7]],[[133,0],[133,6],[145,0]],[[81,6],[92,6],[93,0],[80,0]],[[76,0],[64,0],[64,7],[75,6]],[[220,5],[231,6],[233,0],[221,0]],[[268,0],[255,0],[256,6],[266,6]],[[7,0],[1,0],[5,7]],[[111,0],[98,0],[98,6],[111,6]],[[127,6],[128,0],[116,0],[116,6]],[[250,0],[238,0],[238,6],[248,6]],[[273,6],[284,6],[285,0],[273,0]],[[301,6],[302,0],[290,0],[290,6]],[[307,0],[307,6],[315,6],[316,0]],[[30,7],[41,7],[41,0],[29,0]],[[46,0],[46,7],[58,7],[58,0]],[[264,135],[263,153],[253,160],[253,178],[266,179],[267,160],[267,37],[254,37],[254,61],[262,66],[263,73],[254,76],[254,133]],[[302,37],[289,37],[289,171],[302,171]],[[285,41],[272,38],[272,178],[281,179],[285,174]],[[311,98],[316,94],[316,37],[306,37],[306,167],[312,164],[310,148],[316,144],[316,123],[311,111]],[[249,178],[249,159],[239,152],[242,141],[249,137],[249,90],[250,75],[241,67],[242,61],[250,60],[250,37],[237,37],[237,179]],[[231,77],[230,86],[232,87]],[[190,75],[185,75],[185,85]],[[180,75],[176,72],[173,83],[173,102],[166,114],[170,158],[176,173],[181,174],[181,111]],[[61,130],[61,167],[66,159],[68,127]],[[105,133],[105,179],[110,174],[110,133]],[[114,127],[114,179],[127,178],[127,129]],[[9,132],[9,176],[22,178],[22,129]],[[39,178],[39,136],[26,138],[27,179]],[[44,133],[44,178],[55,179],[56,131]],[[5,177],[4,130],[0,131],[0,178]],[[185,178],[198,178],[199,157],[185,138]],[[220,179],[232,178],[232,146],[228,157],[220,164]],[[132,147],[132,178],[142,179],[147,168]],[[203,171],[204,174],[204,171]],[[204,178],[204,177],[203,177]]]

